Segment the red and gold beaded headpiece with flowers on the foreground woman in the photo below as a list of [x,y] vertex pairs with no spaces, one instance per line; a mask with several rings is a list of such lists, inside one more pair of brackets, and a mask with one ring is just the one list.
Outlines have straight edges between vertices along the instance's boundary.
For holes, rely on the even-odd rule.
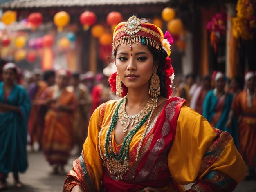
[[[130,45],[132,49],[132,44],[141,43],[142,45],[150,45],[155,49],[161,51],[164,49],[167,53],[166,62],[164,66],[164,72],[166,76],[166,93],[167,97],[171,96],[172,89],[171,84],[174,78],[173,67],[171,66],[171,59],[169,58],[171,54],[171,44],[173,43],[173,38],[168,31],[164,34],[162,30],[154,24],[144,23],[137,18],[137,16],[131,16],[128,21],[119,23],[113,33],[113,43],[112,50],[115,51],[117,47],[121,44]],[[112,74],[109,78],[110,86],[112,91],[115,90],[115,76]],[[122,84],[124,89],[123,96],[126,94],[126,87]]]

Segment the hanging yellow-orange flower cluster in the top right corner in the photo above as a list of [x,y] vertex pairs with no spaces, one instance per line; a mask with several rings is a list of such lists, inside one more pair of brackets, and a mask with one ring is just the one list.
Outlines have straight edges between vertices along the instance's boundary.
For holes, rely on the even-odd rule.
[[238,0],[237,16],[232,19],[233,35],[244,40],[254,38],[256,30],[256,0]]

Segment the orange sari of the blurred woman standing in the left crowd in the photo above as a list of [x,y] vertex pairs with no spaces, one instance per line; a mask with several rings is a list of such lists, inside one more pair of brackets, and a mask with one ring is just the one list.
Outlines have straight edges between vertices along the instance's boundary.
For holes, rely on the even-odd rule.
[[[48,87],[43,94],[43,99],[53,99],[57,87]],[[66,105],[75,109],[76,97],[73,92],[63,89],[56,103],[49,106],[45,115],[43,130],[43,150],[47,161],[51,165],[67,163],[73,144],[73,112],[56,109],[56,105]]]

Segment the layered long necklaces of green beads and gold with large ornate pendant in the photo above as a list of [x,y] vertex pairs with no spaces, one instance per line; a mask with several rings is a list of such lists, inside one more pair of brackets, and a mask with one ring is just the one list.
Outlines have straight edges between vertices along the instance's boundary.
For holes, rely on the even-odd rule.
[[[137,114],[137,116],[140,116],[140,117],[137,118],[137,116],[136,116],[136,118],[135,117],[133,118],[134,121],[129,121],[129,124],[131,122],[133,122],[134,127],[124,138],[124,141],[121,145],[119,153],[116,153],[112,149],[112,132],[114,131],[114,128],[115,128],[117,120],[118,120],[118,117],[119,116],[124,116],[124,114],[126,114],[125,108],[120,109],[121,105],[125,106],[126,99],[127,99],[127,96],[125,96],[117,104],[117,106],[115,107],[115,109],[113,111],[113,114],[111,116],[110,126],[109,126],[109,128],[106,132],[106,138],[105,138],[105,142],[104,142],[105,154],[103,154],[102,151],[101,151],[101,133],[102,133],[104,127],[99,132],[99,145],[98,145],[98,147],[99,147],[99,152],[100,152],[101,159],[103,159],[103,166],[105,166],[107,168],[107,170],[110,172],[110,174],[113,174],[116,177],[116,180],[119,180],[119,179],[123,180],[124,175],[128,172],[128,170],[129,170],[130,142],[132,141],[132,138],[135,135],[135,133],[142,127],[142,125],[144,125],[144,123],[146,123],[146,121],[148,121],[147,125],[146,125],[146,128],[144,130],[144,133],[141,136],[139,146],[137,147],[137,154],[136,154],[136,160],[135,161],[138,161],[139,151],[141,149],[144,138],[146,137],[146,132],[147,132],[148,127],[150,125],[150,121],[151,121],[151,117],[153,115],[153,111],[154,111],[155,107],[157,107],[157,100],[158,100],[158,98],[150,97],[150,99],[148,101],[148,104],[142,110],[142,111],[146,111],[147,113],[141,111],[141,112],[138,113],[139,115]],[[123,110],[124,110],[125,113],[123,112]],[[119,114],[120,111],[123,114]],[[142,114],[145,114],[145,116],[142,116]],[[128,119],[132,119],[132,116],[131,116],[131,118],[129,116]],[[139,122],[135,123],[135,120],[138,120],[138,119],[141,119],[141,121],[139,120]],[[119,121],[121,121],[121,120],[119,120]]]

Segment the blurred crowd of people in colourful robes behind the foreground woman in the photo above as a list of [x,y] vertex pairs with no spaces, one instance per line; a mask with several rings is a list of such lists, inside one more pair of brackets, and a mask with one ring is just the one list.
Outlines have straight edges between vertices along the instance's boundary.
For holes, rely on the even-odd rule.
[[[7,146],[7,149],[2,150],[0,155],[6,155],[10,150],[8,147],[11,145],[7,142],[17,141],[20,153],[22,149],[24,152],[24,148],[25,151],[42,150],[52,165],[53,174],[65,173],[64,165],[70,154],[81,153],[94,110],[108,100],[118,99],[110,91],[108,77],[103,73],[94,75],[91,71],[71,74],[64,69],[34,69],[21,73],[14,63],[7,63],[2,68],[0,81],[0,115],[1,119],[7,119],[1,121],[1,126],[15,127],[27,121],[27,127],[24,124],[24,132],[20,133],[22,138],[19,133],[14,133],[15,129],[1,135],[1,146]],[[176,76],[174,85],[173,96],[185,98],[190,107],[202,114],[213,127],[231,134],[249,167],[247,178],[255,178],[255,73],[251,71],[245,74],[244,79],[234,77],[231,80],[221,72],[202,78],[188,74],[185,77]],[[16,92],[13,87],[17,89]],[[8,116],[17,112],[22,118]],[[12,125],[8,118],[16,118],[17,121]],[[12,137],[11,141],[5,139],[8,136]],[[22,141],[24,138],[26,141]],[[24,161],[24,165],[22,167],[20,162],[16,162],[16,185],[20,184],[18,172],[23,172],[27,167],[26,157],[19,161]],[[2,183],[5,183],[8,172],[13,171],[8,170],[8,162],[5,164],[6,171],[0,172]]]

